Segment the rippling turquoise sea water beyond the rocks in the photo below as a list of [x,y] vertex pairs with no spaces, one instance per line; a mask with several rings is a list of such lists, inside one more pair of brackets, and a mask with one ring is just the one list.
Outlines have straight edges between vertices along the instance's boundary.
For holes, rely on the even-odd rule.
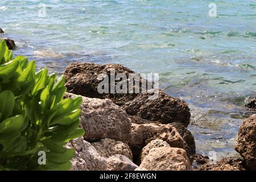
[[[46,3],[46,17],[38,16]],[[197,152],[237,156],[238,126],[256,92],[256,1],[0,1],[0,27],[15,54],[63,73],[73,61],[119,63],[160,74],[187,101]]]

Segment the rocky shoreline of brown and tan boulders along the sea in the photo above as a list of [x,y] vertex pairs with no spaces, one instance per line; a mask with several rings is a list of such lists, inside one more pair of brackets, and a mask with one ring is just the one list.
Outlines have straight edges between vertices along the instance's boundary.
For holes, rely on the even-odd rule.
[[[15,48],[13,40],[5,40]],[[100,94],[98,75],[110,76],[111,69],[135,73],[119,64],[72,63],[65,70],[64,97],[82,96],[80,127],[85,130],[83,137],[67,144],[76,150],[72,170],[256,170],[256,114],[245,119],[238,131],[234,149],[241,159],[223,158],[213,164],[207,156],[196,154],[194,137],[187,129],[191,113],[185,101],[161,89],[155,100],[148,100],[151,93]],[[256,109],[255,103],[256,99],[245,106]]]

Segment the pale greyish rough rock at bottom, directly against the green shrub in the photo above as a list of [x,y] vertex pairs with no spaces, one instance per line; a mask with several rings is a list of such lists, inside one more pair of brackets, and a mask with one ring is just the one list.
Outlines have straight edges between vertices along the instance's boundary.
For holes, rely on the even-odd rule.
[[76,150],[75,157],[71,160],[72,170],[75,171],[106,171],[108,162],[98,154],[96,148],[84,138],[80,137],[72,140],[68,144]]

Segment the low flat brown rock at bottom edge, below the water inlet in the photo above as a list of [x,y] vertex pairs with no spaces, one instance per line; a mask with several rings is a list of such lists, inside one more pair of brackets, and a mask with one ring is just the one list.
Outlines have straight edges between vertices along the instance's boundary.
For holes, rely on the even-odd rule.
[[223,158],[216,164],[206,163],[198,171],[245,171],[245,162],[242,159]]

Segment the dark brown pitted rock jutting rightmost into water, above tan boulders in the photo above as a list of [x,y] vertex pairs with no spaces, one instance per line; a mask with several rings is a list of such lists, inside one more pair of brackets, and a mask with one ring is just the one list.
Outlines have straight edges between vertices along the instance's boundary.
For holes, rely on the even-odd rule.
[[159,97],[148,100],[150,93],[141,93],[134,100],[126,102],[123,108],[128,115],[137,115],[148,121],[157,121],[163,124],[182,123],[188,126],[191,114],[185,101],[170,97],[159,90]]

